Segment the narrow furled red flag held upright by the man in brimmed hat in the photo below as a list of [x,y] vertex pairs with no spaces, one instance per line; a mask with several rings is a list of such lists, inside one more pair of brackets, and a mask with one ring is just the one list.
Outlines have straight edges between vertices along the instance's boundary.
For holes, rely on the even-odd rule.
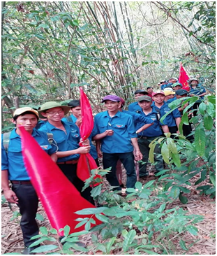
[[[82,125],[80,126],[80,135],[82,140],[84,141],[86,138],[89,138],[91,132],[93,130],[93,113],[91,109],[91,104],[87,99],[87,95],[80,87],[80,104],[81,104],[81,111],[82,111]],[[90,171],[93,169],[98,169],[95,160],[91,155],[88,154],[81,154],[80,158],[77,163],[77,177],[80,180],[87,180],[90,177]],[[99,177],[100,176],[95,176]]]

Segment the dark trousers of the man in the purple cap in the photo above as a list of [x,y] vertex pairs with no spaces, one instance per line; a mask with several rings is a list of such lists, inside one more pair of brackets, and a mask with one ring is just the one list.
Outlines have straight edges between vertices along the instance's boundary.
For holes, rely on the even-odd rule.
[[[119,181],[117,180],[116,176],[116,166],[119,159],[121,163],[124,164],[124,168],[126,169],[126,187],[135,187],[136,173],[133,152],[114,154],[103,152],[103,168],[107,169],[112,167],[110,173],[106,175],[107,181],[110,183],[110,185],[119,187]],[[119,187],[118,190],[121,190],[121,187]]]

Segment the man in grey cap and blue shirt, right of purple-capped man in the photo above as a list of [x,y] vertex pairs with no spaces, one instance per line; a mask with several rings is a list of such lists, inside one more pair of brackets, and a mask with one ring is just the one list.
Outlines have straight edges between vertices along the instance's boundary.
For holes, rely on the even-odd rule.
[[[149,159],[149,144],[154,139],[163,136],[163,132],[169,132],[167,125],[163,125],[159,121],[159,116],[157,111],[154,107],[151,106],[152,99],[149,96],[142,96],[137,99],[138,104],[142,108],[140,111],[140,115],[143,115],[146,118],[151,118],[154,121],[154,124],[151,127],[145,129],[144,131],[140,131],[138,136],[138,144],[140,147],[140,151],[142,152],[142,163],[140,163],[140,178],[147,178],[149,176],[149,171],[147,171],[147,163]],[[137,124],[140,127],[140,123]],[[136,127],[137,129],[137,127]],[[156,172],[163,170],[163,158],[162,156],[159,157],[160,154],[160,146],[159,144],[156,145],[154,149],[154,162],[156,163],[155,168]]]

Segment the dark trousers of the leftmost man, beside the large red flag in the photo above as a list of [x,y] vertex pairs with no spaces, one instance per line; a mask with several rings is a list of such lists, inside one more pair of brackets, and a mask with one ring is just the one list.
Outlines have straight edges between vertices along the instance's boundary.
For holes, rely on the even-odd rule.
[[[13,184],[13,192],[17,195],[20,214],[22,215],[20,227],[24,239],[24,245],[29,247],[35,240],[30,240],[32,236],[38,235],[38,225],[36,222],[36,213],[38,209],[38,196],[32,185]],[[32,248],[36,248],[35,246]]]

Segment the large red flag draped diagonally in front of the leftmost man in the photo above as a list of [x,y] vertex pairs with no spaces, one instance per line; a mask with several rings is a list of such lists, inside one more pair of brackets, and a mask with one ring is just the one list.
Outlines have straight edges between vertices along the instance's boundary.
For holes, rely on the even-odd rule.
[[[95,206],[80,195],[57,164],[40,148],[24,127],[19,128],[24,164],[52,227],[59,232],[59,229],[68,225],[71,234],[84,230],[84,226],[75,229],[77,218],[93,217],[96,225],[100,224],[95,216],[75,214],[83,208],[95,208]],[[93,226],[95,225],[91,227]],[[63,236],[63,232],[59,232],[59,235]]]

